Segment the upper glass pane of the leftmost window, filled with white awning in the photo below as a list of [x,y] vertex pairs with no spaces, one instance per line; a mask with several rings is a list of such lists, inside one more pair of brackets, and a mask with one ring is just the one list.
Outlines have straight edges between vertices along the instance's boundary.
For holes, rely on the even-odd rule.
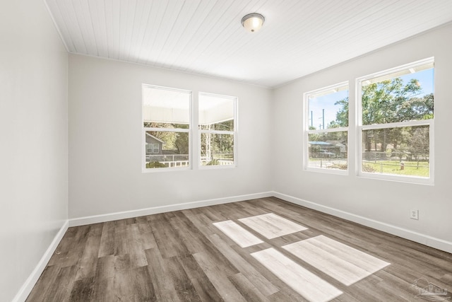
[[143,85],[143,127],[189,128],[191,92]]

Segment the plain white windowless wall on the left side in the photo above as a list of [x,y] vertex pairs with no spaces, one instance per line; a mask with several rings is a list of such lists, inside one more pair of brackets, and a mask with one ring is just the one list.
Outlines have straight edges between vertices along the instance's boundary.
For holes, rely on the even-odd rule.
[[67,53],[44,1],[1,1],[0,45],[0,301],[11,301],[67,221]]

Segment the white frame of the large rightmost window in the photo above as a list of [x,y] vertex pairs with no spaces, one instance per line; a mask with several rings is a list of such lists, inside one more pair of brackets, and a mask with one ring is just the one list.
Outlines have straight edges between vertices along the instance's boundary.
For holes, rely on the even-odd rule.
[[[401,66],[394,67],[392,69],[386,69],[384,71],[379,71],[374,74],[369,74],[367,76],[362,76],[356,79],[356,102],[357,102],[357,144],[356,144],[356,167],[357,175],[362,178],[375,178],[379,180],[393,180],[399,182],[412,182],[425,185],[434,184],[434,117],[430,120],[414,120],[405,122],[393,122],[387,124],[362,124],[362,82],[369,81],[380,76],[386,76],[394,74],[400,71],[404,71],[416,66],[422,66],[425,64],[434,63],[434,57],[427,59],[422,59],[420,61],[404,64]],[[393,78],[390,78],[393,79]],[[391,129],[397,127],[415,127],[415,126],[429,126],[429,178],[422,178],[420,176],[412,175],[394,175],[394,174],[383,174],[383,173],[369,173],[362,171],[362,132],[364,130],[371,129]]]

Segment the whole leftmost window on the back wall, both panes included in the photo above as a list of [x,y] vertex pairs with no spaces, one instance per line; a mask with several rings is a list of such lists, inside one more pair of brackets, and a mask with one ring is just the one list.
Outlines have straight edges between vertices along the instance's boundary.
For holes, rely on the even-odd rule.
[[191,91],[144,85],[143,170],[190,167]]

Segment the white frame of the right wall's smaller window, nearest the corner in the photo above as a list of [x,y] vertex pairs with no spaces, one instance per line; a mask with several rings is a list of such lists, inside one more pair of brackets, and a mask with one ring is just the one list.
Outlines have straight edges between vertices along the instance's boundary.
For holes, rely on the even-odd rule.
[[[330,128],[330,129],[318,129],[318,130],[309,130],[309,95],[319,94],[327,91],[334,91],[338,87],[348,87],[349,94],[349,108],[348,108],[348,127],[338,127],[338,128]],[[303,112],[304,112],[304,123],[303,123],[303,141],[304,141],[304,152],[303,152],[303,168],[307,171],[312,172],[320,172],[320,173],[330,173],[330,174],[338,174],[338,175],[348,175],[350,170],[350,152],[347,151],[347,170],[339,170],[339,169],[328,169],[328,168],[316,168],[309,166],[309,134],[323,134],[328,132],[347,132],[347,149],[350,146],[350,83],[349,81],[344,81],[340,83],[336,83],[334,85],[322,87],[316,89],[314,91],[308,91],[303,93]]]

